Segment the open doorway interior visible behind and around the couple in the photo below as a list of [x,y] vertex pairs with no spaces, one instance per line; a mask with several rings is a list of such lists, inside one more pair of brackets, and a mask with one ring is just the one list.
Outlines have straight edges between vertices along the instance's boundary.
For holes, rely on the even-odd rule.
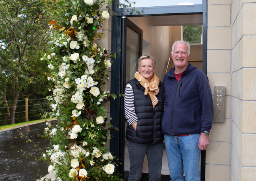
[[[156,60],[155,74],[160,81],[173,66],[171,49],[175,41],[189,41],[189,63],[203,69],[202,14],[165,15],[126,18],[126,79],[125,85],[138,70],[141,55],[152,55]],[[125,122],[125,127],[127,122]],[[130,161],[126,140],[124,144],[124,172],[129,172]],[[143,173],[148,173],[147,157]],[[163,144],[162,175],[169,175],[165,144]]]

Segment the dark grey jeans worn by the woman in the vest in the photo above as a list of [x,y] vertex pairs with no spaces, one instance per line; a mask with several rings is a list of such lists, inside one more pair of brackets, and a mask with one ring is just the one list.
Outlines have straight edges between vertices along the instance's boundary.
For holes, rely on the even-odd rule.
[[130,158],[130,173],[128,181],[139,181],[145,155],[148,159],[149,181],[161,181],[163,142],[157,144],[139,144],[127,140]]

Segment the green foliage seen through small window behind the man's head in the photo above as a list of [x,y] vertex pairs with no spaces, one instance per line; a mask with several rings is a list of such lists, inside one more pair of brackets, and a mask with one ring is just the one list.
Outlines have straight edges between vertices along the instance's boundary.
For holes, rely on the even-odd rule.
[[191,44],[202,43],[202,25],[183,26],[183,40]]

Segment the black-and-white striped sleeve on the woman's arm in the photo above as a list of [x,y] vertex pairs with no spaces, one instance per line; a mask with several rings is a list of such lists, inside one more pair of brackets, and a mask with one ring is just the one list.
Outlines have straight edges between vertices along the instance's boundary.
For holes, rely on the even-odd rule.
[[134,91],[129,83],[124,91],[124,115],[129,125],[134,124],[138,120],[134,106]]

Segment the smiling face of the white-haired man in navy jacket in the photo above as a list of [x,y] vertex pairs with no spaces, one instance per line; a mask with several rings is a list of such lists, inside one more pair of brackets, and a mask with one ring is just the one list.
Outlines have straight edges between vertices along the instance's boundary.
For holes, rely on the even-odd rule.
[[186,43],[176,43],[174,45],[172,58],[175,68],[181,69],[187,67],[189,54],[187,53]]

